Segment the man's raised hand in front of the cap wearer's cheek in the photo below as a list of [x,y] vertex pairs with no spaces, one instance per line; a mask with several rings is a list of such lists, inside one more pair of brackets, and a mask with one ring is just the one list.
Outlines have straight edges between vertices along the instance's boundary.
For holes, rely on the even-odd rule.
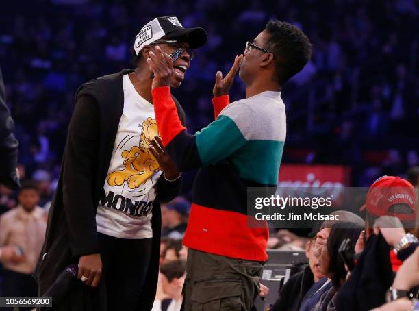
[[150,70],[154,73],[151,88],[169,86],[172,75],[180,75],[180,73],[174,71],[173,60],[170,55],[168,55],[168,53],[164,53],[158,45],[155,47],[155,53],[153,51],[149,53],[147,64],[149,64]]

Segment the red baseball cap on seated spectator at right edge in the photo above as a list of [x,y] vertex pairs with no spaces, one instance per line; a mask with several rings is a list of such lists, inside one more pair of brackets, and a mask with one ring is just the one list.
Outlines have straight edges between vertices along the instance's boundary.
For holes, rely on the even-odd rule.
[[[392,208],[396,204],[403,204],[406,208]],[[374,216],[395,216],[401,221],[416,221],[415,188],[400,177],[380,177],[368,190],[361,210],[365,208]]]

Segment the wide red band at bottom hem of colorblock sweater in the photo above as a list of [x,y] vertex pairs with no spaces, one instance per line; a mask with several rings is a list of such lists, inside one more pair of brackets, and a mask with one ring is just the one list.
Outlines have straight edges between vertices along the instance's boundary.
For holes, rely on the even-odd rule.
[[192,203],[183,244],[191,249],[246,260],[268,259],[268,227],[251,228],[244,214]]

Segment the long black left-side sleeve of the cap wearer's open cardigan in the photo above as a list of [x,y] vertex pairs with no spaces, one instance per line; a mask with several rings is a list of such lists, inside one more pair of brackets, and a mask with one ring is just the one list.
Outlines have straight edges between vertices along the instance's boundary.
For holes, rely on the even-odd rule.
[[64,151],[63,199],[73,256],[99,253],[92,179],[99,152],[99,112],[90,96],[77,99]]

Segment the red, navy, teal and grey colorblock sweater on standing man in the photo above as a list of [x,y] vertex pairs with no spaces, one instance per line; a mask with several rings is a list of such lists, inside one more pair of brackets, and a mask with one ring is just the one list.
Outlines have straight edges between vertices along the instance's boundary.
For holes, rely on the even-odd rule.
[[213,99],[216,121],[194,135],[181,125],[170,88],[152,90],[155,118],[166,150],[180,171],[200,167],[183,243],[231,258],[268,259],[268,227],[250,228],[247,187],[277,186],[286,135],[280,92],[229,103]]

